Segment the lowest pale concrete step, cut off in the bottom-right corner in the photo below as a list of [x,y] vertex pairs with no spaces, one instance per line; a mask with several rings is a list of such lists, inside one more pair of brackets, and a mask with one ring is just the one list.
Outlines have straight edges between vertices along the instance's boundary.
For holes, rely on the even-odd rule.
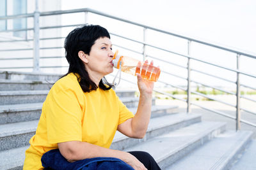
[[255,170],[256,169],[256,161],[255,161],[255,153],[256,153],[256,140],[250,141],[246,149],[243,153],[239,155],[239,159],[234,162],[230,170]]

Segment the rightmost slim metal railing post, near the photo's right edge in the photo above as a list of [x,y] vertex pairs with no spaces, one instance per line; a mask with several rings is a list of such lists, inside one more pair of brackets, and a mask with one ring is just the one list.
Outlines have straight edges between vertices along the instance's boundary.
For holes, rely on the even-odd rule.
[[[240,66],[240,54],[237,53],[237,71],[239,71],[239,66]],[[236,80],[236,131],[239,131],[241,129],[241,110],[240,110],[240,73],[237,72],[237,80]]]

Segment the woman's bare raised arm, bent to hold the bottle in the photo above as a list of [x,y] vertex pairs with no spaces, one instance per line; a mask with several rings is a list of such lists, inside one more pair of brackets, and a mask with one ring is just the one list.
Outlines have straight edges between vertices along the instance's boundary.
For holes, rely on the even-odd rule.
[[[150,63],[153,65],[153,62]],[[140,101],[138,110],[133,118],[126,120],[118,125],[118,131],[131,138],[143,138],[147,132],[148,123],[151,115],[152,92],[154,88],[153,81],[143,80],[138,74],[138,88],[140,90]]]

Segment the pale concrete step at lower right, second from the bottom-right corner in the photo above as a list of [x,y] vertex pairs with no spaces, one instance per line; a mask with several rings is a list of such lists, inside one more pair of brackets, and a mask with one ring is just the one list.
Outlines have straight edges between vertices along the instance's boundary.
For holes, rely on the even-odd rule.
[[[241,153],[241,150],[244,150],[251,136],[252,131],[227,131],[216,136],[194,152],[189,153],[166,170],[229,169],[237,155]],[[241,169],[247,168],[243,167]]]

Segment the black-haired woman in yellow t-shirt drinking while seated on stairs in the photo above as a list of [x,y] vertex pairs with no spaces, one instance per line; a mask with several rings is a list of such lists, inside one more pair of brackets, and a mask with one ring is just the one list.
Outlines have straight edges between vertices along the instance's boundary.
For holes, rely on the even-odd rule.
[[44,169],[42,155],[56,148],[68,162],[114,157],[134,169],[159,169],[146,152],[109,149],[116,130],[131,138],[145,136],[154,87],[154,82],[137,75],[140,102],[133,115],[104,78],[113,72],[111,46],[108,31],[99,25],[84,25],[68,34],[68,73],[56,81],[45,99],[24,169]]

